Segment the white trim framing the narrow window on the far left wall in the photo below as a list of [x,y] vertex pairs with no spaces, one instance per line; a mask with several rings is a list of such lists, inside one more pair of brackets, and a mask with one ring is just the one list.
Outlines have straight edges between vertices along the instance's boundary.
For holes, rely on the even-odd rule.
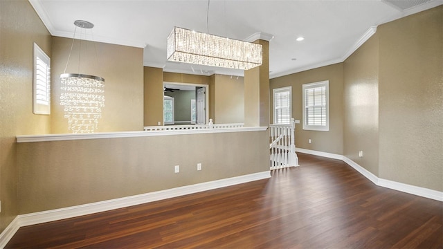
[[[33,51],[33,112],[35,114],[49,115],[51,114],[51,58],[49,58],[48,55],[44,53],[42,48],[39,48],[39,46],[35,42],[33,46]],[[37,57],[42,62],[44,62],[46,66],[48,66],[46,72],[46,86],[43,86],[44,88],[46,88],[47,104],[43,104],[37,101],[37,89],[40,88],[39,82],[41,82],[41,80],[38,80],[41,77],[37,77]]]

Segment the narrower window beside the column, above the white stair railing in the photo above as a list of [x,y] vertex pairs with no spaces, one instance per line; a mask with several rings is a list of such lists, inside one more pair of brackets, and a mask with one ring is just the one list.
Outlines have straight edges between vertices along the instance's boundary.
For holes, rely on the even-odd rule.
[[289,124],[291,122],[291,92],[292,86],[273,89],[274,124]]

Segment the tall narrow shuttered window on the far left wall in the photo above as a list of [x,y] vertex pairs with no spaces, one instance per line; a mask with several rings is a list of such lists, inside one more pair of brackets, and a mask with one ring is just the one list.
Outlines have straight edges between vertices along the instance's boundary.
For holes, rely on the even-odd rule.
[[51,59],[34,43],[33,111],[51,114]]

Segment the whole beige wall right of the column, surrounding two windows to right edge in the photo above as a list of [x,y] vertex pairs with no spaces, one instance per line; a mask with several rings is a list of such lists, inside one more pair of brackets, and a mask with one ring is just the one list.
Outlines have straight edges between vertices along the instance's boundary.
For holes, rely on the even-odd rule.
[[336,128],[325,133],[298,125],[296,146],[343,154],[379,178],[442,191],[442,41],[439,6],[379,26],[343,64],[271,79],[271,91],[292,86],[293,117],[299,120],[301,84],[329,80]]

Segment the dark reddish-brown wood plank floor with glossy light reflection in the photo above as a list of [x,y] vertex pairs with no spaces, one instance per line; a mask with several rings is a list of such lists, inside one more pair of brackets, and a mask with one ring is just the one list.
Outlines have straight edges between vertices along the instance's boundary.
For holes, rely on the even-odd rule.
[[443,204],[298,154],[272,178],[20,228],[6,248],[443,248]]

